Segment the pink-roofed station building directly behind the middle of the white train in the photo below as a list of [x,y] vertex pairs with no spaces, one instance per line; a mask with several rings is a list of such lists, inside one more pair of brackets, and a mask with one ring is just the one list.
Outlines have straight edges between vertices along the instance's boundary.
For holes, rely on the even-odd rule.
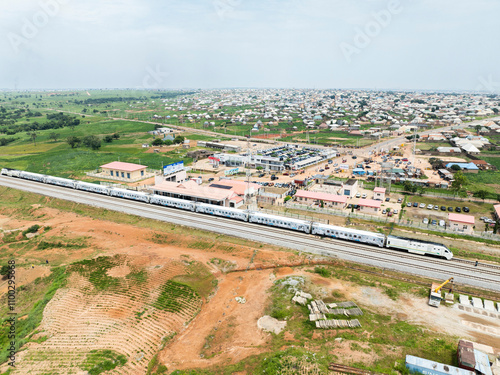
[[184,183],[162,182],[152,188],[154,194],[186,199],[195,202],[215,204],[224,207],[239,207],[243,198],[230,189],[200,186],[194,181]]

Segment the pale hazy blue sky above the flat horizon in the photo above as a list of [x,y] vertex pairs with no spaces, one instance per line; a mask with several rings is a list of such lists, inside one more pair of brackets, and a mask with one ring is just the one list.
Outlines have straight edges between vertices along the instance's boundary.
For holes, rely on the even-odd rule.
[[500,90],[499,0],[0,2],[0,88]]

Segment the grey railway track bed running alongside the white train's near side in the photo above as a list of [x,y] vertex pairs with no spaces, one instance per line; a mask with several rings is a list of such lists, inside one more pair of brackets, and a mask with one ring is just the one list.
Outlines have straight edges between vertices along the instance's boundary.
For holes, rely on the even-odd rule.
[[0,185],[303,252],[345,259],[385,269],[393,269],[408,274],[432,277],[438,280],[445,280],[453,276],[458,284],[473,285],[500,292],[500,269],[490,268],[482,264],[474,267],[469,263],[446,261],[374,246],[318,238],[317,236],[305,233],[214,218],[195,212],[158,207],[142,202],[60,188],[5,176],[0,176]]

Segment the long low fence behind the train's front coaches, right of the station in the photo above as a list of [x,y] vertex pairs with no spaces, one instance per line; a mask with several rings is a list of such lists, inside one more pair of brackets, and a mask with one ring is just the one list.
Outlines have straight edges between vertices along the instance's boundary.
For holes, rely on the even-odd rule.
[[[494,234],[493,232],[474,232],[471,234],[467,233],[462,233],[462,232],[457,232],[454,230],[451,230],[449,228],[443,228],[438,225],[431,225],[431,224],[424,224],[421,223],[420,221],[415,223],[409,219],[406,220],[401,220],[398,217],[392,217],[389,218],[387,216],[384,217],[378,217],[378,216],[373,216],[373,215],[368,215],[368,214],[362,214],[359,212],[351,212],[350,210],[333,210],[330,208],[319,208],[319,207],[311,207],[311,206],[306,206],[303,204],[295,203],[295,202],[287,202],[286,207],[288,208],[294,208],[297,210],[304,210],[304,211],[310,211],[310,212],[317,212],[317,213],[322,213],[322,214],[329,214],[329,215],[335,215],[335,216],[341,216],[341,217],[347,217],[347,218],[353,218],[353,219],[363,219],[367,221],[376,221],[378,223],[394,223],[402,227],[407,227],[407,228],[412,228],[412,229],[423,229],[423,230],[432,230],[436,232],[442,232],[442,233],[449,233],[449,234],[460,234],[460,235],[467,235],[471,237],[476,237],[476,238],[485,238],[485,239],[491,239],[494,241],[500,241],[500,234]],[[278,215],[283,215],[282,212],[278,213]],[[313,221],[320,221],[318,219],[313,218]],[[322,222],[328,222],[328,220],[323,220]]]

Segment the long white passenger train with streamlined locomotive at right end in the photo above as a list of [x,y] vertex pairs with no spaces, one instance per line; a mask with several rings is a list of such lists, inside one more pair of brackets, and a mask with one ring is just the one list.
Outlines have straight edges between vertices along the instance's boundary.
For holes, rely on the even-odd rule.
[[381,233],[369,232],[358,229],[343,228],[334,225],[315,223],[311,221],[288,218],[284,216],[269,215],[261,212],[240,210],[212,204],[193,202],[184,199],[166,197],[156,194],[147,194],[133,190],[112,188],[83,181],[75,181],[67,178],[47,176],[39,173],[19,171],[16,169],[3,168],[0,174],[10,177],[17,177],[45,184],[57,185],[76,190],[83,190],[92,193],[104,194],[113,197],[126,198],[159,206],[178,208],[193,212],[200,212],[208,215],[226,217],[234,220],[257,223],[271,227],[290,229],[298,232],[331,237],[347,241],[361,242],[379,247],[406,250],[410,253],[420,255],[434,255],[450,260],[453,253],[446,246],[421,241],[412,238],[386,236]]

